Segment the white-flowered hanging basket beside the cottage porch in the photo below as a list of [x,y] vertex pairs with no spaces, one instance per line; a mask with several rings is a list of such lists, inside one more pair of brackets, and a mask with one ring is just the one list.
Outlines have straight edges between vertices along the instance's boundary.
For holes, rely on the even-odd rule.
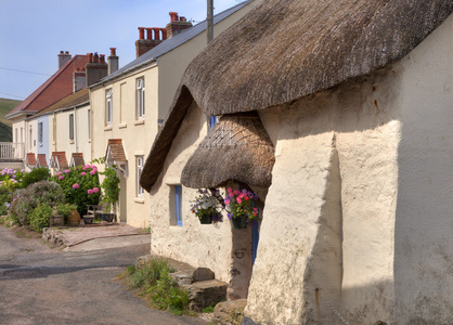
[[210,193],[207,188],[198,190],[199,195],[195,200],[191,200],[192,213],[195,213],[199,219],[211,217],[212,222],[222,222],[222,206],[218,199],[220,196],[219,190],[216,193]]

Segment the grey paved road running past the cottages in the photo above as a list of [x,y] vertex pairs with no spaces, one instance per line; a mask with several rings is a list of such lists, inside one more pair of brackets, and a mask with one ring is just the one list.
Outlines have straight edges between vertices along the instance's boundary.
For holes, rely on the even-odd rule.
[[148,249],[62,251],[0,226],[0,324],[206,324],[152,310],[114,281]]

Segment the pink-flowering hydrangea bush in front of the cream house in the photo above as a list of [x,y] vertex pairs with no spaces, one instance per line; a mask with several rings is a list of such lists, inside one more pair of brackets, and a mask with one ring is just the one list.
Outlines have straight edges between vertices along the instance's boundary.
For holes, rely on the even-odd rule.
[[87,213],[87,205],[99,204],[99,191],[93,191],[100,186],[95,166],[70,167],[59,171],[51,180],[62,186],[66,202],[76,205],[80,216]]

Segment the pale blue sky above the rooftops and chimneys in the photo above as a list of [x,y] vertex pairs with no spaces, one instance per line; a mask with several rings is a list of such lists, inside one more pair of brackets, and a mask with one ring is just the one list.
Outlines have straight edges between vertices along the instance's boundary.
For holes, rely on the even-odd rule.
[[[218,14],[243,0],[213,0]],[[25,100],[57,69],[57,54],[116,48],[119,67],[135,58],[138,27],[165,27],[169,12],[195,25],[207,0],[0,0],[0,98]]]

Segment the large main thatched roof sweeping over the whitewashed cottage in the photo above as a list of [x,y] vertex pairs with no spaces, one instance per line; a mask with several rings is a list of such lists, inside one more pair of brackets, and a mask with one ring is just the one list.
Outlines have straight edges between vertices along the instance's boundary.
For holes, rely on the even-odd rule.
[[189,65],[142,187],[157,180],[192,101],[208,116],[293,102],[402,58],[452,12],[453,0],[263,1]]

